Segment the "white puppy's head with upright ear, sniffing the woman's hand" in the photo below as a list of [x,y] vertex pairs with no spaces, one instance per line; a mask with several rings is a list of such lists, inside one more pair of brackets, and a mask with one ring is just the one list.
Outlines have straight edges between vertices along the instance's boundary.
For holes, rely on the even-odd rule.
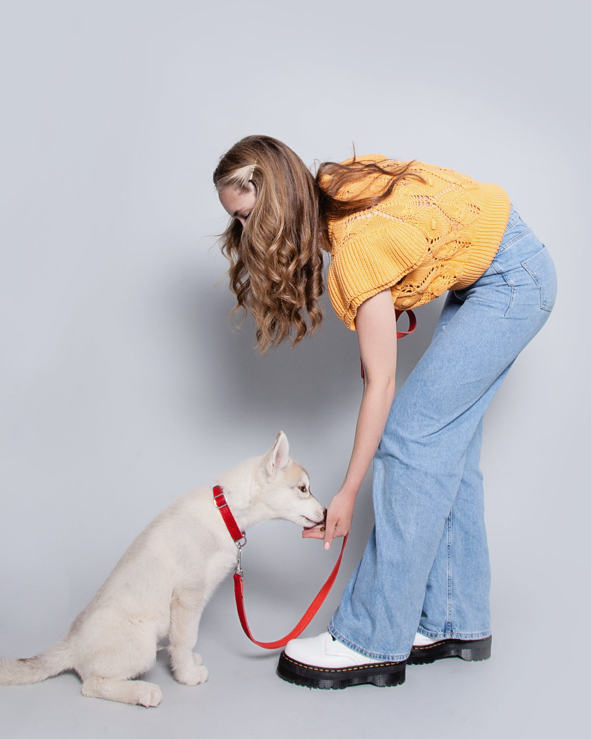
[[290,445],[282,431],[260,461],[256,488],[256,507],[262,518],[280,518],[310,528],[326,517],[326,508],[310,493],[307,471],[290,459]]

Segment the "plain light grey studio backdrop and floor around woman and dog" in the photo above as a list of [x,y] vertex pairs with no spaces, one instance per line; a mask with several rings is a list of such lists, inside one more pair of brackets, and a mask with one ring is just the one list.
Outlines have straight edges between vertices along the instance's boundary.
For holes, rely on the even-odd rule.
[[[207,684],[163,703],[81,698],[63,675],[0,689],[10,738],[578,735],[587,664],[587,6],[576,1],[28,0],[0,18],[0,653],[63,635],[131,539],[177,494],[284,429],[328,503],[361,397],[355,334],[326,303],[318,336],[261,358],[213,246],[211,185],[245,134],[305,162],[352,142],[504,185],[550,248],[556,310],[485,423],[491,661],[411,667],[397,689],[307,691],[239,630],[230,582],[205,611]],[[218,284],[219,283],[219,284]],[[400,344],[399,381],[440,304]],[[323,630],[372,526],[369,480]],[[254,529],[247,608],[289,630],[335,551]]]

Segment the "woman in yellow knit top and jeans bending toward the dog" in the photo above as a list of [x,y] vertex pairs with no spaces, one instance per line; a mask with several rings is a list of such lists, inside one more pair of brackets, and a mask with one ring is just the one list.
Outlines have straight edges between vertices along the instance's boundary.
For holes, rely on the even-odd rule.
[[[373,461],[375,528],[327,632],[290,641],[282,677],[308,687],[404,680],[404,667],[491,653],[479,470],[482,415],[552,310],[544,245],[498,185],[378,154],[324,163],[250,136],[213,181],[233,218],[230,287],[262,351],[321,323],[323,251],[339,318],[358,334],[364,390],[324,539],[349,533]],[[394,399],[396,310],[449,290],[431,345]],[[308,323],[307,323],[308,321]]]

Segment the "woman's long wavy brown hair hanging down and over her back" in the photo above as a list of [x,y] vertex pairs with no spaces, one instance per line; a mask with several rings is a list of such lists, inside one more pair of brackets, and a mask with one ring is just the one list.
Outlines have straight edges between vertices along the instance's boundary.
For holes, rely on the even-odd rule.
[[[378,205],[405,176],[420,177],[410,171],[413,163],[353,156],[346,164],[321,164],[313,177],[289,146],[270,136],[247,136],[221,157],[213,172],[218,192],[248,193],[250,183],[256,191],[245,227],[231,219],[220,242],[236,295],[232,313],[242,311],[244,320],[250,311],[261,353],[287,338],[294,346],[320,326],[329,221]],[[362,180],[366,186],[351,197],[347,186]]]

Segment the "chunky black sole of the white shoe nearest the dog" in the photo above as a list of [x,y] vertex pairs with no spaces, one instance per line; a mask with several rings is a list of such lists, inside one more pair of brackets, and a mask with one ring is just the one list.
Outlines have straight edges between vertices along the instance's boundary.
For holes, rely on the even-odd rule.
[[405,667],[406,662],[376,662],[329,670],[328,667],[312,667],[310,664],[298,662],[281,652],[277,674],[287,682],[304,685],[307,688],[339,690],[349,685],[363,683],[381,688],[403,684]]

